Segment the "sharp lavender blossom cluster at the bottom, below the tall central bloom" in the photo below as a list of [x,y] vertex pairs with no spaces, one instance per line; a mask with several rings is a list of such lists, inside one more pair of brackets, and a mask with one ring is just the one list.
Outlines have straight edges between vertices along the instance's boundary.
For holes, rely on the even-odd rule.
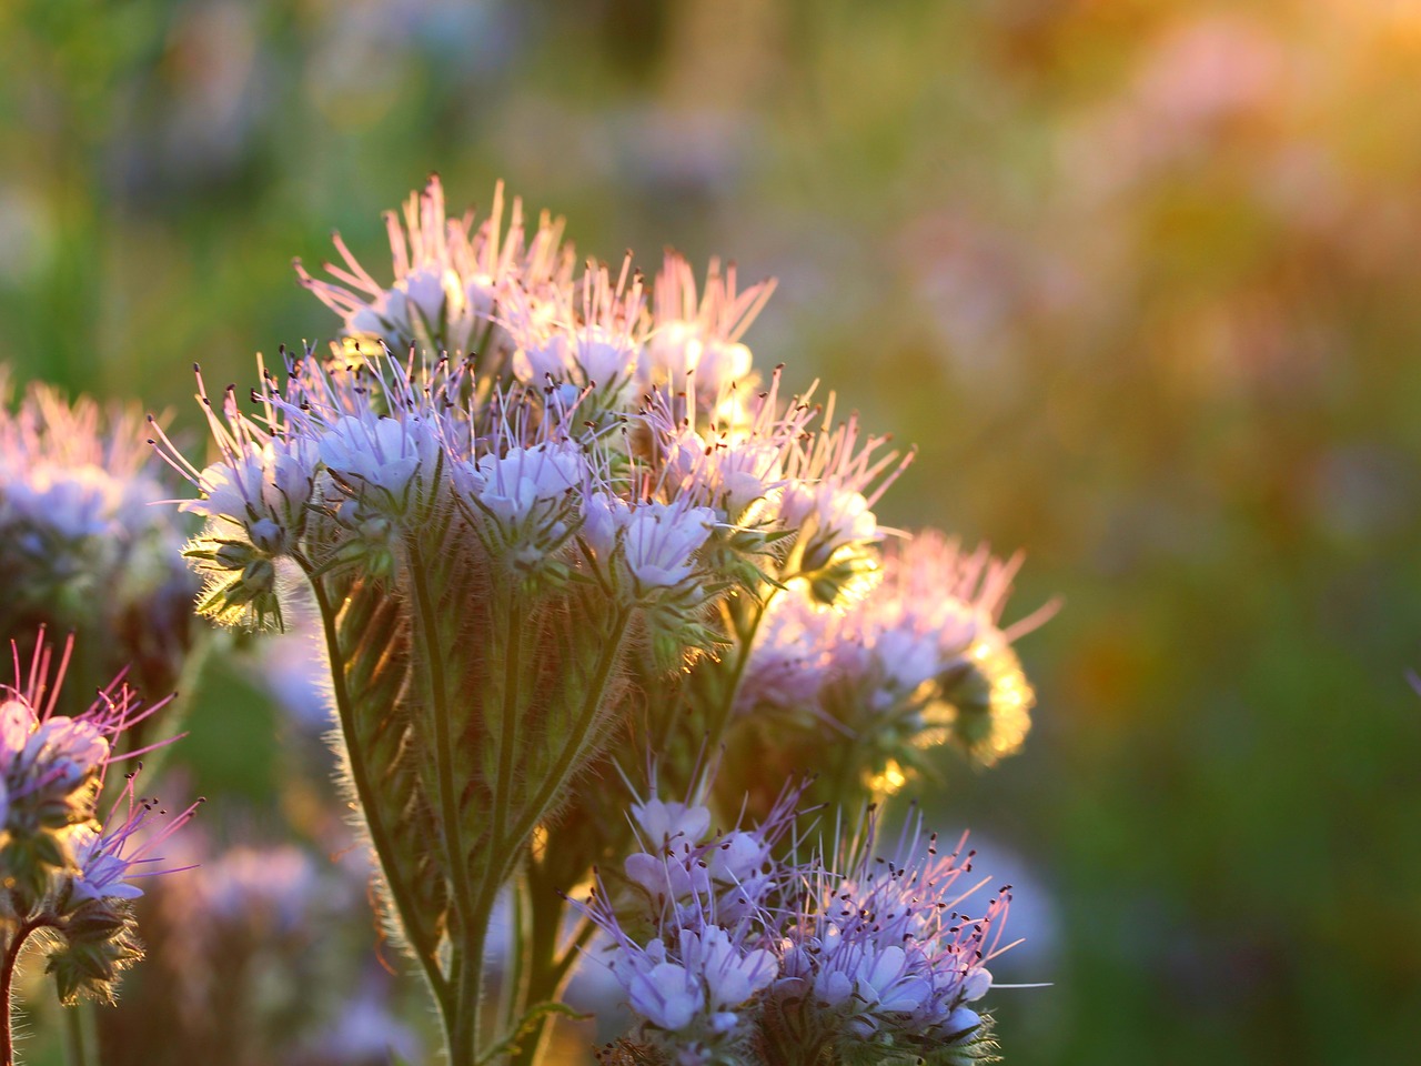
[[973,853],[959,843],[938,854],[921,819],[888,856],[870,814],[833,870],[780,858],[797,799],[783,793],[755,830],[713,834],[705,806],[632,807],[645,850],[627,857],[617,891],[598,881],[578,904],[607,935],[597,957],[639,1021],[621,1050],[676,1066],[986,1057],[990,1019],[972,1005],[1012,947],[1010,885],[966,914],[985,885],[959,884]]

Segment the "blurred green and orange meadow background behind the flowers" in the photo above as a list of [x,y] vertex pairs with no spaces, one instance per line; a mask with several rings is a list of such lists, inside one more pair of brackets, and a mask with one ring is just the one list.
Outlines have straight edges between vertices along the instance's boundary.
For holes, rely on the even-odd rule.
[[[1026,752],[934,803],[1015,864],[1012,975],[1054,982],[993,996],[1007,1062],[1401,1062],[1418,70],[1410,0],[20,0],[0,361],[172,409],[196,456],[190,362],[246,384],[333,335],[291,256],[335,227],[387,277],[379,212],[429,171],[585,254],[777,276],[757,362],[921,449],[881,519],[1025,549],[1009,621],[1064,603],[1020,645]],[[313,868],[257,888],[324,884],[320,745],[270,671],[213,662],[173,762],[239,841],[298,837]]]

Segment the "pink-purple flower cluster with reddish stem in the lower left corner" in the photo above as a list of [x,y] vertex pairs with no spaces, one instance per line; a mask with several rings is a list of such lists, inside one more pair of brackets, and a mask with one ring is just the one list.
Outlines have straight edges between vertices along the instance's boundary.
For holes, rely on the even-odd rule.
[[0,687],[6,984],[26,940],[47,930],[54,942],[48,969],[65,1002],[81,992],[112,999],[119,971],[142,954],[128,910],[128,901],[142,895],[134,880],[158,873],[156,849],[196,810],[193,804],[155,827],[168,812],[136,795],[135,770],[108,816],[99,817],[115,739],[162,704],[145,706],[115,681],[82,714],[55,714],[72,647],[71,638],[55,664],[41,634],[28,675],[16,651],[14,684]]

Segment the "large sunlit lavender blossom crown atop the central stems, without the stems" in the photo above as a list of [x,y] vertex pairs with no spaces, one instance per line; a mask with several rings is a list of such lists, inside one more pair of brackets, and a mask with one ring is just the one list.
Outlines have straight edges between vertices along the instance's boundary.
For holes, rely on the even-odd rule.
[[[189,547],[203,611],[280,624],[277,560],[388,573],[399,529],[450,510],[513,569],[593,569],[634,600],[678,603],[681,623],[705,600],[692,586],[787,567],[833,601],[872,570],[871,507],[901,462],[833,404],[782,399],[777,374],[757,387],[739,337],[767,283],[739,291],[712,264],[698,298],[674,254],[649,296],[625,266],[574,277],[558,225],[529,239],[514,205],[506,233],[497,212],[473,229],[445,216],[438,181],[391,235],[392,289],[344,244],[334,281],[301,274],[364,343],[263,371],[254,414],[234,389],[200,391],[215,463],[165,448],[202,493],[183,509],[207,519]],[[477,327],[455,330],[465,314]],[[475,335],[487,347],[465,355]]]

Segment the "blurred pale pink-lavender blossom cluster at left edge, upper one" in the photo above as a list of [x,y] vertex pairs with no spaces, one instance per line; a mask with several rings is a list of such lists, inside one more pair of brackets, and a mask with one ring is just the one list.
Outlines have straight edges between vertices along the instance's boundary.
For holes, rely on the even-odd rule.
[[[17,404],[0,368],[0,642],[77,632],[95,659],[75,691],[131,664],[145,689],[176,684],[196,638],[172,493],[134,411],[104,414],[44,385]],[[77,709],[78,704],[74,704]]]

